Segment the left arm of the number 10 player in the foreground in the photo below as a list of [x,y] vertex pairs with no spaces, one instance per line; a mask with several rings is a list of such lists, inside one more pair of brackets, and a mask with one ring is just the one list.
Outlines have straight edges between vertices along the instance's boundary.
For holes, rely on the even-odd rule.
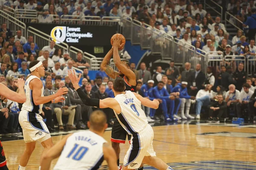
[[66,144],[67,138],[73,135],[69,134],[65,136],[61,141],[56,143],[53,147],[43,153],[41,158],[41,170],[49,170],[53,159],[61,155],[64,145]]

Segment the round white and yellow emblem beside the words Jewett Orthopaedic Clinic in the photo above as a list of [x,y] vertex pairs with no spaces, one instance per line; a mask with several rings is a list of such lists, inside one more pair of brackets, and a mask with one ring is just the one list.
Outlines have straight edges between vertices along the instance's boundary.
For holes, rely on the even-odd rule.
[[67,28],[65,26],[55,26],[52,28],[51,37],[55,43],[59,44],[66,39]]

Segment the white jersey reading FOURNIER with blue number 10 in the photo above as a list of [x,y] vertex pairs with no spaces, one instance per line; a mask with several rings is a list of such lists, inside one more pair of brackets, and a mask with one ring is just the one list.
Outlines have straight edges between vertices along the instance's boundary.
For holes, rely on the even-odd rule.
[[102,164],[103,144],[107,141],[90,130],[74,133],[67,138],[53,170],[97,170]]

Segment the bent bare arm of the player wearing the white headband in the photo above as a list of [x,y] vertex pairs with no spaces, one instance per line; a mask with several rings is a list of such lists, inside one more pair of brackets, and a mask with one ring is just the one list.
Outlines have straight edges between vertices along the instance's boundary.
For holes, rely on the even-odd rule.
[[43,84],[40,79],[32,79],[29,83],[29,87],[32,90],[35,105],[63,102],[65,98],[62,95],[67,94],[68,92],[68,88],[65,87],[60,88],[57,93],[50,96],[41,96],[41,88],[43,87]]

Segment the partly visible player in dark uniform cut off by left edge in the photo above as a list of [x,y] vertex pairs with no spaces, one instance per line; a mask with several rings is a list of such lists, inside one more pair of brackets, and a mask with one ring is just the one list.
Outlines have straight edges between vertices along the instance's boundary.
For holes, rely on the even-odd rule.
[[[18,103],[24,103],[24,102],[26,102],[24,84],[25,84],[25,81],[23,79],[18,79],[18,82],[15,85],[18,87],[19,93],[16,93],[14,91],[11,91],[9,88],[7,88],[2,83],[0,83],[0,89],[1,89],[0,95],[4,96],[6,99],[10,99],[12,101],[15,101]],[[1,111],[3,112],[3,109]],[[2,143],[0,141],[0,170],[8,170],[6,163],[7,163],[6,157],[5,157],[5,154],[3,151]]]

